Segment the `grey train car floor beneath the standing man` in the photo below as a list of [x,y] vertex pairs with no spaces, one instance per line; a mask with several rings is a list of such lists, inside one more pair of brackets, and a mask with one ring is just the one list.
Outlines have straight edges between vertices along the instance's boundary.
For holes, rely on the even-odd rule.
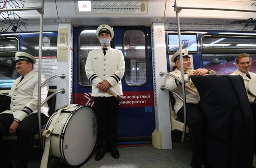
[[[178,132],[178,134],[180,133]],[[13,142],[8,143],[8,145],[13,144]],[[13,146],[12,148],[15,147]],[[95,161],[94,152],[81,168],[190,168],[192,157],[190,141],[180,142],[180,138],[174,139],[173,149],[159,150],[150,143],[146,143],[144,146],[139,147],[123,147],[120,145],[118,150],[120,152],[119,159],[112,158],[108,152],[100,161]],[[42,153],[40,148],[33,148],[32,155],[28,161],[28,168],[40,168]],[[14,164],[17,152],[10,152],[10,158]],[[256,167],[256,156],[254,156],[253,166]],[[49,161],[47,168],[72,167],[52,159]]]

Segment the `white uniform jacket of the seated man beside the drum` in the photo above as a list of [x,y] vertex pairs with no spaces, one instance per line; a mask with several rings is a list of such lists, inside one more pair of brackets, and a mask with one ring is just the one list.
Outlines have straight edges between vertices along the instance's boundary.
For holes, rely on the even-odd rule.
[[[13,114],[15,121],[22,121],[29,114],[37,113],[37,86],[38,73],[32,70],[24,76],[20,82],[21,76],[13,82],[9,93],[11,96],[10,110],[3,111],[1,114]],[[45,76],[41,75],[41,81],[46,81]],[[41,102],[47,98],[48,85],[41,87]],[[41,107],[41,113],[48,116],[47,102]]]

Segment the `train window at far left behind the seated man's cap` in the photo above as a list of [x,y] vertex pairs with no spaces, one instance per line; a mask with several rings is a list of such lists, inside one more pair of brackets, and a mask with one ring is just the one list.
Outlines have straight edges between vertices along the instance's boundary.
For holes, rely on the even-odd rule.
[[12,87],[18,77],[14,57],[18,48],[19,41],[16,37],[0,36],[0,89]]

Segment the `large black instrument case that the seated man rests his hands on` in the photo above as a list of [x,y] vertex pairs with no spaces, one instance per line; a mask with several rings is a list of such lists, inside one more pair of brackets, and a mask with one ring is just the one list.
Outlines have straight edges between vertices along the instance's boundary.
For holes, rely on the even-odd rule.
[[251,168],[253,113],[240,75],[192,76],[205,114],[205,161],[211,168]]

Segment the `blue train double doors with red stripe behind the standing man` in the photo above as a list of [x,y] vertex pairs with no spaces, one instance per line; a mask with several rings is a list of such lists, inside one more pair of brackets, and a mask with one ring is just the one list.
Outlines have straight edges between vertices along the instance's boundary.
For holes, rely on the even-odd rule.
[[[73,103],[94,106],[84,66],[88,52],[100,47],[96,28],[74,28]],[[121,80],[123,100],[118,115],[118,136],[120,141],[150,139],[155,129],[150,28],[113,29],[115,35],[111,47],[123,52],[126,63]]]

